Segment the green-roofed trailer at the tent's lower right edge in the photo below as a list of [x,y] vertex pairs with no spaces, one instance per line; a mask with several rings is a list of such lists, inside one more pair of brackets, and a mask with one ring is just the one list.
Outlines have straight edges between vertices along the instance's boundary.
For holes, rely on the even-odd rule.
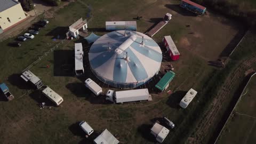
[[169,83],[174,78],[175,73],[173,71],[168,71],[161,79],[160,81],[155,85],[155,87],[161,91],[164,91],[169,86]]

